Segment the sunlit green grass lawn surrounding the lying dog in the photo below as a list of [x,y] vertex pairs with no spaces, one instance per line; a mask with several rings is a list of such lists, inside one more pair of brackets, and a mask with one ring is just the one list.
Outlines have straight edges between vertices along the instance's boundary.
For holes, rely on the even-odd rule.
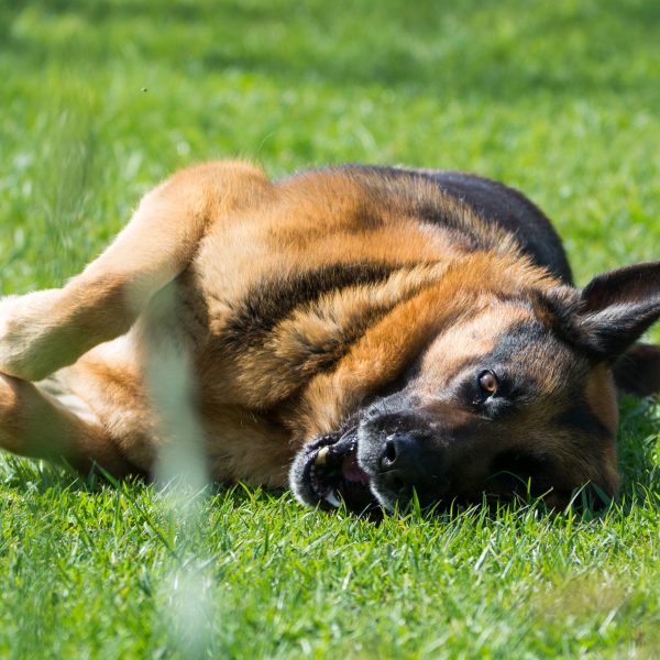
[[[62,283],[150,186],[227,156],[474,170],[549,213],[580,283],[658,258],[659,30],[648,0],[0,0],[0,293]],[[373,526],[4,460],[0,656],[651,658],[659,428],[623,403],[595,518]]]

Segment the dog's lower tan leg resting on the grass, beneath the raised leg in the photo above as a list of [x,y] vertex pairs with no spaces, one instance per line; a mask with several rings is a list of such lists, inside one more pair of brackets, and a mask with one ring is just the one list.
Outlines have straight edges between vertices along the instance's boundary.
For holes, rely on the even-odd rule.
[[140,472],[94,416],[77,415],[36,385],[3,374],[0,447],[32,459],[64,459],[84,473],[95,463],[117,477]]

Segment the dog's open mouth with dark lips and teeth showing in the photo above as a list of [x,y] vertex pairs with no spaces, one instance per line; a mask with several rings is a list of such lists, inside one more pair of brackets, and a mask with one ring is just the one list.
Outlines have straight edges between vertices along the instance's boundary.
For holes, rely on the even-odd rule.
[[336,509],[343,501],[346,509],[362,514],[378,509],[370,488],[370,476],[358,462],[355,430],[323,436],[305,447],[290,472],[292,488],[304,504]]

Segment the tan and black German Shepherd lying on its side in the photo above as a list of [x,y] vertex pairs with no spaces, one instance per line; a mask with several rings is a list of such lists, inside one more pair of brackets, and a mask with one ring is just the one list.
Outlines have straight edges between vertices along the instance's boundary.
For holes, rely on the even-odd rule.
[[[169,302],[167,302],[169,301]],[[546,216],[466,174],[175,174],[81,274],[0,301],[0,447],[153,473],[145,351],[185,355],[213,479],[352,512],[612,497],[619,387],[660,388],[660,262],[573,286]]]

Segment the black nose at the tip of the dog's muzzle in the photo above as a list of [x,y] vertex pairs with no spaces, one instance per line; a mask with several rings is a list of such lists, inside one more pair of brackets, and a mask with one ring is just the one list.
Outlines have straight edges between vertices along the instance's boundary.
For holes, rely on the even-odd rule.
[[425,481],[428,471],[419,435],[408,431],[388,436],[378,468],[387,486],[395,493],[418,486]]

